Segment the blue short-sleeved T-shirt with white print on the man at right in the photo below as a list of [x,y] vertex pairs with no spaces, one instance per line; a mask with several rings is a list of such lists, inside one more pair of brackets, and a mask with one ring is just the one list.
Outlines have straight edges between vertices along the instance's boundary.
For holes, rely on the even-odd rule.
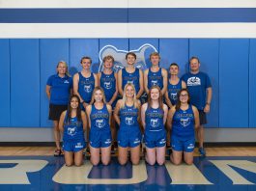
[[190,95],[190,103],[198,110],[204,110],[206,105],[206,89],[212,87],[208,74],[198,72],[196,74],[185,73],[182,77]]

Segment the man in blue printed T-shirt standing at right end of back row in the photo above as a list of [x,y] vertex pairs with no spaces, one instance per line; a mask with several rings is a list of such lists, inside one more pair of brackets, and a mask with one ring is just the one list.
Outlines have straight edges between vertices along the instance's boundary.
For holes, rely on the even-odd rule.
[[213,95],[212,84],[207,73],[201,72],[200,61],[197,57],[189,60],[190,72],[185,73],[182,80],[185,81],[186,88],[190,95],[190,103],[197,107],[200,117],[200,127],[196,135],[199,142],[199,152],[206,155],[204,149],[204,124],[207,123],[206,114],[210,112],[210,105]]

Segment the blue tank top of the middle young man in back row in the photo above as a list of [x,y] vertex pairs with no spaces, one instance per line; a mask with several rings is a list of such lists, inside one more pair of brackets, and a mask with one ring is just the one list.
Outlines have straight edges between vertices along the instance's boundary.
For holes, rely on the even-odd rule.
[[128,83],[131,83],[135,87],[136,94],[139,92],[139,68],[135,68],[133,73],[128,73],[126,68],[122,69],[122,88],[124,90]]

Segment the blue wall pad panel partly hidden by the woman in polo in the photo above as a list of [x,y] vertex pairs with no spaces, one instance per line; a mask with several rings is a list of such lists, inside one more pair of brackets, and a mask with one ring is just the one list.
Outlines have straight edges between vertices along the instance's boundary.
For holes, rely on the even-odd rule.
[[41,88],[41,126],[52,126],[48,120],[49,101],[45,94],[45,86],[50,75],[56,73],[59,61],[69,65],[69,40],[40,40],[40,88]]

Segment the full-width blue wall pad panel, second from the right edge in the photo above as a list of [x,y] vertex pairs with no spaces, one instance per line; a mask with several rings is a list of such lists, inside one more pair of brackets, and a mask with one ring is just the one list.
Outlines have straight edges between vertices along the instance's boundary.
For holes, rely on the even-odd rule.
[[220,127],[248,127],[248,50],[249,40],[220,40]]

